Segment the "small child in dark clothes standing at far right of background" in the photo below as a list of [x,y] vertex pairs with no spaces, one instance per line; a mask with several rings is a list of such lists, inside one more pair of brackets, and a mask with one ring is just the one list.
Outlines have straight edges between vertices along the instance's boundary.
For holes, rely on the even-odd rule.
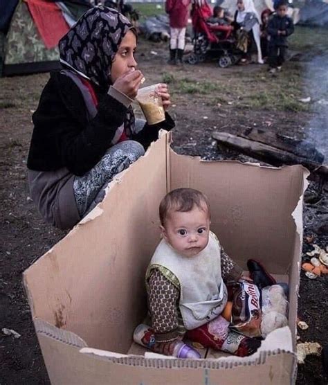
[[280,1],[277,13],[268,21],[268,65],[269,71],[280,71],[286,60],[287,36],[294,32],[293,20],[286,15],[288,4]]

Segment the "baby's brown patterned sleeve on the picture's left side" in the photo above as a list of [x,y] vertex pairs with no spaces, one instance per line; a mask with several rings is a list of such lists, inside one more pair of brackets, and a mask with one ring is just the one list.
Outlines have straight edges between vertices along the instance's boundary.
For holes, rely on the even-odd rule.
[[178,333],[180,292],[161,271],[152,269],[148,285],[148,307],[156,342],[174,341]]

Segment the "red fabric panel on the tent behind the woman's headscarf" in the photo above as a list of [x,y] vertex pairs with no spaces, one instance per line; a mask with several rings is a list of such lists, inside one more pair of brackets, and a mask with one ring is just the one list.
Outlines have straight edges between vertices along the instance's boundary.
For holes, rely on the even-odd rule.
[[62,10],[55,3],[43,0],[26,0],[28,9],[46,48],[57,46],[58,41],[69,31]]

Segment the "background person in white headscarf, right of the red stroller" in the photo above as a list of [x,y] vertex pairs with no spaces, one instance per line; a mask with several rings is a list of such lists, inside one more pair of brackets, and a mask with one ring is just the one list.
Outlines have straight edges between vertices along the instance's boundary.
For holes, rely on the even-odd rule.
[[[253,0],[237,0],[237,10],[235,12],[234,22],[238,35],[237,48],[247,55],[250,46],[248,37],[251,32],[257,47],[257,62],[263,64],[260,40],[261,32],[259,30],[260,24],[261,19],[254,6]],[[246,61],[246,57],[243,57],[243,60]]]

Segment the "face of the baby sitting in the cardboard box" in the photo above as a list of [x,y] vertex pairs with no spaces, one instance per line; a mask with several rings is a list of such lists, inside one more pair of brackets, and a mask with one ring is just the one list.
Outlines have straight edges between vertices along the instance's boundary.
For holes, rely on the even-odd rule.
[[203,210],[194,206],[191,211],[170,211],[162,228],[165,240],[184,257],[197,256],[208,244],[210,217],[206,205]]

